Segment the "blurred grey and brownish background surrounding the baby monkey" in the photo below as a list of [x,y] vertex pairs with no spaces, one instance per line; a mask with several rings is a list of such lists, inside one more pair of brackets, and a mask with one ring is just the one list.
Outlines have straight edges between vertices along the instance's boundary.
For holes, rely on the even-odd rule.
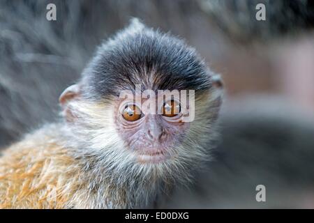
[[161,207],[314,208],[313,1],[0,0],[0,147],[57,120],[60,93],[132,17],[184,38],[225,82],[214,162]]

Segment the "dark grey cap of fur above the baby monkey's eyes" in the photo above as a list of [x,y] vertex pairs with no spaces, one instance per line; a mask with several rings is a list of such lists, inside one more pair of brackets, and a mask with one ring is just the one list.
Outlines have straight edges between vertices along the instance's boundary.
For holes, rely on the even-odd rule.
[[99,97],[121,91],[206,90],[211,73],[193,48],[182,40],[147,29],[117,36],[98,49],[85,79]]

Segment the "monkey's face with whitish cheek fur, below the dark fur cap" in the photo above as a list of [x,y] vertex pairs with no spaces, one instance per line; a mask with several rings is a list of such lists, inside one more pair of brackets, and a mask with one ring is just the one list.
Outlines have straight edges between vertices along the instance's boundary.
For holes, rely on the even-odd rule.
[[[77,89],[70,87],[70,90]],[[220,107],[217,91],[195,96],[195,118],[184,121],[187,110],[179,98],[154,98],[154,111],[145,106],[146,98],[117,98],[91,101],[73,100],[65,106],[65,116],[82,151],[110,155],[128,164],[175,165],[207,159],[207,142],[216,138],[215,122]],[[63,95],[62,98],[66,98]],[[150,105],[150,104],[149,104]],[[203,144],[207,144],[204,147]],[[117,163],[119,163],[117,162]]]

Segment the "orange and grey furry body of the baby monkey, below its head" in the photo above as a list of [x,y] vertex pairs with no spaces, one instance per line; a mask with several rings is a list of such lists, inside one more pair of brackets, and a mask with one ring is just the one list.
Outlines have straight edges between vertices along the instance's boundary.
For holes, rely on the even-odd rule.
[[[3,152],[0,208],[131,208],[143,203],[128,197],[130,185],[108,184],[108,178],[88,170],[86,160],[73,157],[56,137],[59,128],[47,125]],[[138,186],[154,191],[154,185]],[[138,199],[147,199],[145,191],[137,192]]]

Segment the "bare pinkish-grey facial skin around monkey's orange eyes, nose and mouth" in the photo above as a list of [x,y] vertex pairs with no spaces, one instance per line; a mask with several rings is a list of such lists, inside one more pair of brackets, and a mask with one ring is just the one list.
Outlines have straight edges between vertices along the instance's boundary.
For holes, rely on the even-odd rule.
[[[135,101],[141,102],[137,105]],[[177,98],[156,100],[156,112],[145,105],[147,99],[120,100],[115,109],[117,131],[133,151],[138,162],[158,163],[177,156],[177,150],[186,135],[189,123],[182,120],[184,114]]]

